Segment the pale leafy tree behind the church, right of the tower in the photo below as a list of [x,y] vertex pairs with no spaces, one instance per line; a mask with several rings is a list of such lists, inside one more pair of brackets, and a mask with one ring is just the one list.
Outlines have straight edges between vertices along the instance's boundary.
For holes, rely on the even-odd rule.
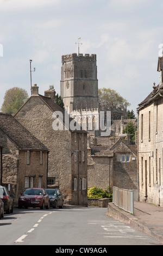
[[111,108],[112,106],[118,108],[126,108],[130,103],[124,99],[116,90],[110,88],[102,88],[98,90],[98,101],[102,108]]

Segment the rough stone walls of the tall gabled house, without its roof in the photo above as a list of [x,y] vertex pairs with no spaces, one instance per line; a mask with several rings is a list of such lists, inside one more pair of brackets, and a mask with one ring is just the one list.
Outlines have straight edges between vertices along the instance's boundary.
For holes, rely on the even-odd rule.
[[85,205],[87,204],[87,193],[83,190],[79,193],[74,191],[73,181],[79,174],[80,166],[83,166],[79,171],[81,179],[87,179],[87,162],[85,161],[85,164],[74,162],[74,150],[85,150],[85,158],[87,157],[86,148],[81,148],[86,147],[86,134],[85,143],[82,142],[81,134],[78,144],[74,140],[73,132],[69,130],[54,131],[52,115],[52,109],[37,95],[30,97],[15,118],[49,150],[48,178],[55,178],[55,184],[48,187],[59,187],[64,195],[65,203]]

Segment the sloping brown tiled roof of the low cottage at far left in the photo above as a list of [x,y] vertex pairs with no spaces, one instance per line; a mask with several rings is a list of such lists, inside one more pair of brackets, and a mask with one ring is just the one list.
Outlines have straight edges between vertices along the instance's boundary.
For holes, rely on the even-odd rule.
[[0,132],[20,150],[48,151],[47,147],[12,117],[11,114],[0,113]]

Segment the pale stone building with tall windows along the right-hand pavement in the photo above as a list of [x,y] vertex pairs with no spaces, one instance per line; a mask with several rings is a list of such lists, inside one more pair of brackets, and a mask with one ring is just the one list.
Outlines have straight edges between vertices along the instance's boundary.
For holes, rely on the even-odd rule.
[[138,107],[139,194],[141,201],[163,206],[163,83],[162,58],[158,59],[160,81]]

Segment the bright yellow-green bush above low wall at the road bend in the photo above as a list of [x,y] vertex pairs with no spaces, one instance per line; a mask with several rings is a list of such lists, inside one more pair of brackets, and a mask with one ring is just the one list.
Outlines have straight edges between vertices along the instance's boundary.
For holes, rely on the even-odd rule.
[[112,191],[110,187],[106,188],[106,190],[98,187],[88,188],[87,198],[109,198],[112,201]]

